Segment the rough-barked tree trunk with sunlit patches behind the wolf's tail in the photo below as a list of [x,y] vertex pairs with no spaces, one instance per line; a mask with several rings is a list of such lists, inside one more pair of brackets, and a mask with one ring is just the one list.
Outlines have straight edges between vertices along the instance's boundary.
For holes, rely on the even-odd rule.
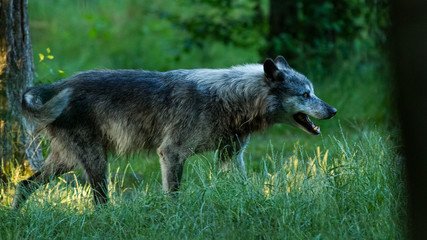
[[34,76],[28,0],[0,0],[0,49],[1,161],[28,160],[37,170],[43,159],[40,141],[21,115],[22,94],[33,85]]

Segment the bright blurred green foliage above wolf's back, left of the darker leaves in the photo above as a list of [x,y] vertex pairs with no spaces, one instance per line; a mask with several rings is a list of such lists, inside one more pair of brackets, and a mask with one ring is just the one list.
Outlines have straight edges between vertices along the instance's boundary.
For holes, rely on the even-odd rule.
[[[189,9],[190,1],[32,1],[30,33],[38,79],[61,78],[50,69],[72,75],[94,68],[163,71],[259,60],[258,46],[228,46],[213,38],[207,40],[206,48],[189,47],[191,34],[173,20],[179,13],[191,14]],[[49,69],[40,67],[38,59],[47,47],[55,56]]]

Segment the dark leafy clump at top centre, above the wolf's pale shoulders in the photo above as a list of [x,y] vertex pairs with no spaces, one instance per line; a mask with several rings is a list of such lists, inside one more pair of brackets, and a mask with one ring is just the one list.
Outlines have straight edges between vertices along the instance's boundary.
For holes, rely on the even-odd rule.
[[[265,28],[264,11],[261,3],[265,1],[217,1],[190,0],[186,8],[193,11],[180,11],[169,18],[183,28],[189,36],[184,40],[185,49],[206,48],[209,41],[215,40],[226,45],[240,47],[262,46],[264,39],[260,29]],[[264,31],[265,32],[265,31]]]

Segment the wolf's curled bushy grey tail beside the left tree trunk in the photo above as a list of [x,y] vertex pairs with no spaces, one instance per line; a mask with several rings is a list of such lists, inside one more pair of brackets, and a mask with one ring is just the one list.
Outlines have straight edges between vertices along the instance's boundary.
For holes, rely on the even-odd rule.
[[68,105],[71,93],[71,88],[65,88],[43,102],[43,89],[30,89],[23,96],[22,113],[39,127],[45,126],[61,115]]

